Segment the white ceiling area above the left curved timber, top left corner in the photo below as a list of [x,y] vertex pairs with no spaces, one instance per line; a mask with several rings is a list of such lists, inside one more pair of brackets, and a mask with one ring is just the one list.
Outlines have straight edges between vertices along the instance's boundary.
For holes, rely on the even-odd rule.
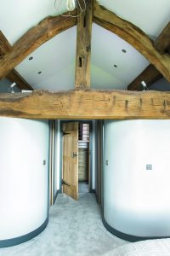
[[10,44],[47,16],[57,15],[54,0],[0,0],[0,4],[0,29]]

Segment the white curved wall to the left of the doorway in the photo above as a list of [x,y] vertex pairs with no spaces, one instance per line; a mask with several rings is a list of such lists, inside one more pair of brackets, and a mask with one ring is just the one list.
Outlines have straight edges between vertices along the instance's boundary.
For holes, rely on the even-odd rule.
[[24,236],[47,218],[48,121],[0,118],[0,240]]

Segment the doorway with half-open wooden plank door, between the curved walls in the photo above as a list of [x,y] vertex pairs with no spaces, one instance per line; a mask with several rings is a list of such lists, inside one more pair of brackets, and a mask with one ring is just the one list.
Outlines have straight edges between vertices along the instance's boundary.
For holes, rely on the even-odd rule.
[[91,121],[62,122],[62,192],[78,200],[92,186]]

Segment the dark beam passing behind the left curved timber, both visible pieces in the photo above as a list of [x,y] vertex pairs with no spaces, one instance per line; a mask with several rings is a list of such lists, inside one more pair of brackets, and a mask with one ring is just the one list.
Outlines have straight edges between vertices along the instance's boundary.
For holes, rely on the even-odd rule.
[[[3,35],[3,32],[0,31],[0,56],[3,57],[3,55],[7,54],[10,50],[12,50],[12,46],[8,43],[8,40]],[[33,90],[31,85],[28,84],[15,69],[9,72],[6,77],[12,83],[15,82],[21,90]]]

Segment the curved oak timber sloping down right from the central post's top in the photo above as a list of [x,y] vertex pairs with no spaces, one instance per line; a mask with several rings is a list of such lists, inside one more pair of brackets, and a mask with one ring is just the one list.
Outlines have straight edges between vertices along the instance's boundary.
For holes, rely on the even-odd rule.
[[94,22],[131,44],[170,81],[170,56],[161,55],[150,38],[139,27],[127,20],[122,20],[111,11],[99,6],[97,2],[94,4]]

